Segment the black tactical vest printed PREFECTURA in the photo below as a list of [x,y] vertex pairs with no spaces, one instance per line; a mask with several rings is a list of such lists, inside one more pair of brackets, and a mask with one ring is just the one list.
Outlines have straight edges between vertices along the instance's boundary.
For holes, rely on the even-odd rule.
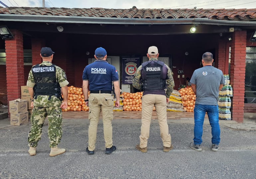
[[32,67],[32,73],[36,81],[34,86],[34,99],[37,95],[49,95],[49,100],[52,96],[57,96],[61,101],[60,84],[56,81],[56,67],[55,65],[45,66],[39,64]]

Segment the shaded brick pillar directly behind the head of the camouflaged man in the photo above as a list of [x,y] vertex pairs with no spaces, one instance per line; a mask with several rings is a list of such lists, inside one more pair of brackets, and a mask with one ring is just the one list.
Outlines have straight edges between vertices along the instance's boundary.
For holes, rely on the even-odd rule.
[[41,48],[45,46],[45,40],[32,39],[32,65],[41,64],[42,58],[40,57]]

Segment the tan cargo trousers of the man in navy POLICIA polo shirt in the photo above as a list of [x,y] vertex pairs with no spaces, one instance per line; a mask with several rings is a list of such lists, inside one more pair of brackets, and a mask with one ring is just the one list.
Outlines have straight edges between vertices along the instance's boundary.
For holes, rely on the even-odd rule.
[[103,133],[105,139],[105,147],[111,148],[112,141],[112,119],[113,119],[113,96],[107,93],[91,93],[89,96],[89,114],[90,120],[88,129],[88,150],[94,151],[99,115],[102,112]]

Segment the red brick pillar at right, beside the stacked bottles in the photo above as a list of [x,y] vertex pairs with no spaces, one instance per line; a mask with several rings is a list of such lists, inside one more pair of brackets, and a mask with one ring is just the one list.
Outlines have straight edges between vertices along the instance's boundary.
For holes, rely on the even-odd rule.
[[243,122],[246,31],[235,31],[231,42],[230,84],[233,87],[232,120]]

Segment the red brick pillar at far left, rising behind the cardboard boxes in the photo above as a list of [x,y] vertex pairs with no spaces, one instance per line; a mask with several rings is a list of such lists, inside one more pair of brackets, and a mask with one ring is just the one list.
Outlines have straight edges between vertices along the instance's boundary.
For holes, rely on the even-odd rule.
[[24,80],[23,34],[19,30],[11,30],[14,38],[5,40],[7,100],[21,97],[20,86]]

